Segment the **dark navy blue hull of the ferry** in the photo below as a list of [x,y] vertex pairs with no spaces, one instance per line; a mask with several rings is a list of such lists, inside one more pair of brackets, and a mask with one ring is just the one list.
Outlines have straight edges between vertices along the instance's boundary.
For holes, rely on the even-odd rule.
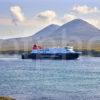
[[66,60],[74,60],[79,57],[79,53],[64,53],[64,54],[23,54],[22,59],[66,59]]

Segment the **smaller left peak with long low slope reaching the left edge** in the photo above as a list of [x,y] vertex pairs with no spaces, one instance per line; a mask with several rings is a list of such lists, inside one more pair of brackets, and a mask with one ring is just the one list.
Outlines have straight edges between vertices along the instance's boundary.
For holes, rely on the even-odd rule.
[[48,37],[51,33],[57,30],[60,26],[51,24],[41,31],[37,32],[35,35],[29,37],[21,38],[11,38],[11,39],[1,39],[0,40],[0,51],[10,51],[10,50],[30,50],[32,44],[38,42],[41,39]]

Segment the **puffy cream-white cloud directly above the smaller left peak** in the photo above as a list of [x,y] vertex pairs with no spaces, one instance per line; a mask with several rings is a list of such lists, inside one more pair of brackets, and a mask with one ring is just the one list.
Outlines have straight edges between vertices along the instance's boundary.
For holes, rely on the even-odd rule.
[[53,10],[39,12],[33,17],[33,23],[37,26],[47,26],[49,24],[62,24],[61,19]]

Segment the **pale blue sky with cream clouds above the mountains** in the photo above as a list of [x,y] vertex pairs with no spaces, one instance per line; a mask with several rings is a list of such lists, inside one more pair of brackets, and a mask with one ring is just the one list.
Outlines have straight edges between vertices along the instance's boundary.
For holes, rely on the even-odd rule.
[[100,0],[0,0],[0,38],[30,36],[80,18],[100,28]]

